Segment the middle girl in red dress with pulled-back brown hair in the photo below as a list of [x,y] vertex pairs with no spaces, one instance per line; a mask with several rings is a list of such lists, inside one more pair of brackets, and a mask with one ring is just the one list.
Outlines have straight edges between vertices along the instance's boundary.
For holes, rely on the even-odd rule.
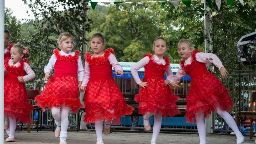
[[127,106],[122,92],[112,78],[112,67],[116,75],[122,75],[122,66],[116,60],[114,50],[105,46],[102,34],[92,35],[90,46],[94,54],[88,52],[84,55],[84,78],[81,91],[84,93],[85,112],[84,122],[95,123],[97,135],[96,144],[104,144],[102,141],[102,125],[104,134],[108,135],[112,124],[120,124],[120,116],[132,114],[131,106]]

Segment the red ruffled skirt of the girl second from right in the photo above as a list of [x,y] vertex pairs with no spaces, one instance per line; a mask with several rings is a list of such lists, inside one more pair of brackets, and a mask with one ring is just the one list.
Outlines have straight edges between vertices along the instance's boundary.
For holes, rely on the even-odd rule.
[[172,92],[169,85],[165,86],[164,78],[144,77],[143,82],[148,82],[148,86],[141,87],[139,94],[135,96],[136,102],[140,103],[140,114],[156,112],[164,117],[180,114],[175,104],[180,97]]

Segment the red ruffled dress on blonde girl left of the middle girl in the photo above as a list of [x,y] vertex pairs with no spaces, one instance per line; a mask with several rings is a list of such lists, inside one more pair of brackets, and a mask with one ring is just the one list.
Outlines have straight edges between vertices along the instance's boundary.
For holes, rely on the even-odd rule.
[[58,49],[53,52],[57,59],[54,65],[54,75],[49,79],[41,94],[36,96],[36,105],[42,109],[65,106],[70,107],[70,112],[77,113],[78,109],[84,107],[78,94],[77,60],[80,52],[75,50],[74,56],[63,56]]

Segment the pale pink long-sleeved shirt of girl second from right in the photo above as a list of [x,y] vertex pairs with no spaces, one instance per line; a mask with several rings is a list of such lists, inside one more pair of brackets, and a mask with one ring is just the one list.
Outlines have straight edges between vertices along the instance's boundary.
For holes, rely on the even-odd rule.
[[[140,84],[142,81],[140,80],[139,74],[138,74],[138,70],[140,68],[142,68],[143,66],[146,66],[149,62],[149,57],[145,56],[144,58],[142,58],[140,61],[138,61],[136,64],[134,64],[131,68],[131,73],[132,76],[135,80],[135,82],[137,84]],[[158,64],[163,64],[165,65],[166,62],[163,58],[159,59],[157,56],[154,55],[154,62],[158,63]],[[166,70],[166,76],[167,76],[167,80],[172,80],[173,74],[172,74],[172,70],[171,67],[169,66],[169,68]]]

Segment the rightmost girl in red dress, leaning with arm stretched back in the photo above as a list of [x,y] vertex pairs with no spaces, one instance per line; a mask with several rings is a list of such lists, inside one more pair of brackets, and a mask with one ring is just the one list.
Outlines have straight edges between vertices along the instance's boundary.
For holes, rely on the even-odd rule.
[[194,50],[190,40],[180,40],[178,43],[179,55],[183,58],[180,62],[180,69],[171,80],[174,89],[179,88],[179,80],[188,74],[192,81],[187,92],[186,122],[197,125],[200,144],[206,144],[206,130],[204,119],[209,118],[212,111],[216,111],[235,132],[237,144],[244,142],[244,136],[238,130],[236,122],[226,112],[232,110],[234,103],[228,95],[229,90],[224,87],[222,82],[208,72],[206,63],[211,62],[220,70],[223,79],[228,76],[228,71],[215,54],[203,53]]

